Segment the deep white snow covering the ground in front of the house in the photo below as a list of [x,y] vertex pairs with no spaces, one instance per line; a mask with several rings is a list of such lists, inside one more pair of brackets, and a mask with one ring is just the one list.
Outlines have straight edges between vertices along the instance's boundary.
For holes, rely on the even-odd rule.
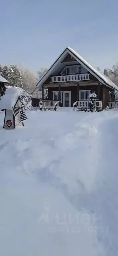
[[0,112],[0,255],[118,255],[118,110]]

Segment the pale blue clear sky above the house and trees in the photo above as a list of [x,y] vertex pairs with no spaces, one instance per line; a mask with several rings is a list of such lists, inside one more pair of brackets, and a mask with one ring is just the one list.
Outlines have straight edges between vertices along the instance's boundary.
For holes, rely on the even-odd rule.
[[66,46],[101,70],[118,62],[117,0],[1,0],[0,63],[49,67]]

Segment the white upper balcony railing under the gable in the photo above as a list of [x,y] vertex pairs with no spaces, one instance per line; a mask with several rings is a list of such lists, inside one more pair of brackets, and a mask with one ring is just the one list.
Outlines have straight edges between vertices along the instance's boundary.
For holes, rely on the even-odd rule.
[[51,76],[51,83],[58,82],[74,82],[74,81],[85,81],[90,80],[90,74],[76,74],[66,76]]

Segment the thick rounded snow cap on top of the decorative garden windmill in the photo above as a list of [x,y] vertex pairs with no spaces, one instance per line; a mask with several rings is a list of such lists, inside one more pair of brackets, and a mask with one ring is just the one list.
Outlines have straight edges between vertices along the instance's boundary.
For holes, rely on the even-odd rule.
[[5,95],[1,97],[0,110],[5,108],[12,110],[12,107],[15,105],[18,99],[18,96],[20,96],[22,92],[23,92],[22,88],[15,87],[15,86],[14,87],[8,86],[6,89]]

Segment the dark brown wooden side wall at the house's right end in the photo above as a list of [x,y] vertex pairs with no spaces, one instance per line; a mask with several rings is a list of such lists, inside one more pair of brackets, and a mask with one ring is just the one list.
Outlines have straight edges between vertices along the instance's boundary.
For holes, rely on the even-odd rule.
[[111,100],[114,100],[114,89],[111,89],[103,85],[103,98],[102,98],[103,109],[105,109],[108,106],[109,92],[111,92]]

